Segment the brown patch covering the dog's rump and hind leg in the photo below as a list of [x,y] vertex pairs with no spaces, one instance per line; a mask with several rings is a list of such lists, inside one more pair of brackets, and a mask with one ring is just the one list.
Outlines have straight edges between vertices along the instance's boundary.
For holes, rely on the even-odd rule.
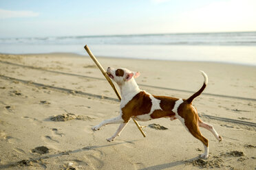
[[201,134],[198,126],[198,121],[201,120],[198,117],[198,112],[196,112],[193,106],[184,101],[178,108],[178,114],[184,119],[184,123],[189,132],[208,147],[208,140]]

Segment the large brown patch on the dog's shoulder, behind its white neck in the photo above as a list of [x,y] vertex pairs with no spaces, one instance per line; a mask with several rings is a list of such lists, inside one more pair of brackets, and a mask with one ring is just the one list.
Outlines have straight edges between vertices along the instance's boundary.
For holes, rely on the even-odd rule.
[[145,92],[140,92],[122,108],[122,119],[127,123],[133,116],[148,114],[151,110],[152,102]]

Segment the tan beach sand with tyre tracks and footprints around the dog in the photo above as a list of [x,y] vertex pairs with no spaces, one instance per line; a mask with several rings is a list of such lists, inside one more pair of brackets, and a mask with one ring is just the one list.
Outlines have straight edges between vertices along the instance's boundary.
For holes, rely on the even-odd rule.
[[[119,102],[88,57],[72,53],[0,55],[0,169],[255,169],[256,67],[214,62],[98,58],[105,68],[140,71],[140,88],[153,95],[188,98],[208,131],[209,158],[180,121],[130,121],[116,141],[118,125],[92,126],[116,117]],[[153,127],[153,128],[151,128]]]

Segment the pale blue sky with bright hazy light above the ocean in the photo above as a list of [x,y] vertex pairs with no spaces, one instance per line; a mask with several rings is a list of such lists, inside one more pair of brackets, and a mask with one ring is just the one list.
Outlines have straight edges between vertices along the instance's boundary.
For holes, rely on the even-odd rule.
[[256,31],[256,0],[0,0],[0,38]]

